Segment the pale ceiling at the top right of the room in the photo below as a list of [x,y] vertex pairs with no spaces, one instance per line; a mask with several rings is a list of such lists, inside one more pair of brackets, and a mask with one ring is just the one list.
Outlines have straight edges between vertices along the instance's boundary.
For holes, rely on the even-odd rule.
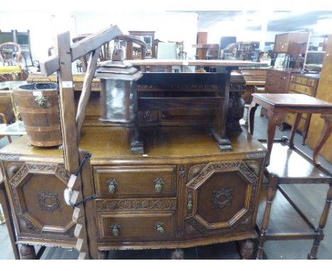
[[[332,32],[332,11],[197,11],[198,29],[204,31],[216,23],[231,21],[243,23],[248,31],[260,31],[263,18],[267,18],[267,31],[289,32],[311,30],[321,21],[320,27]],[[324,21],[328,22],[326,25]],[[325,26],[326,25],[326,26]],[[316,31],[321,32],[321,31]]]

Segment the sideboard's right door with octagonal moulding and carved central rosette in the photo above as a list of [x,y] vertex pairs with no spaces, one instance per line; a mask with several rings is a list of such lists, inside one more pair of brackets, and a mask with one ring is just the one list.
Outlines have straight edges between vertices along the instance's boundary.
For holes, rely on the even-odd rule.
[[[259,174],[250,167],[245,162],[214,162],[189,169],[187,233],[253,227]],[[191,171],[196,171],[194,177]]]

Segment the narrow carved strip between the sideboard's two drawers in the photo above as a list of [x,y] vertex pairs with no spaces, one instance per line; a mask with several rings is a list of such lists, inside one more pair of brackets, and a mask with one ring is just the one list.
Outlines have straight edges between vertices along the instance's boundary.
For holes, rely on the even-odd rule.
[[97,200],[98,211],[113,210],[175,210],[177,199],[107,199]]

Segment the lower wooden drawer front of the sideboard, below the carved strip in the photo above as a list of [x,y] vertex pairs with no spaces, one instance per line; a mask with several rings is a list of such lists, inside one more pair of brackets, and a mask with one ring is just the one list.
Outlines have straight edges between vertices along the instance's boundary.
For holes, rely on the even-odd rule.
[[99,214],[100,238],[158,240],[175,236],[175,211]]

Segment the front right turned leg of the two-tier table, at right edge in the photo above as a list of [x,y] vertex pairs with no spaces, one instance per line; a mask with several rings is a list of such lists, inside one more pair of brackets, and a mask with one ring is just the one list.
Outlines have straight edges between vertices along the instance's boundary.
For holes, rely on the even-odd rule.
[[331,203],[332,203],[332,182],[330,182],[330,187],[328,188],[323,213],[321,214],[321,218],[319,219],[319,227],[317,228],[317,236],[314,240],[314,245],[312,245],[311,251],[307,257],[309,260],[317,259],[317,252],[319,249],[319,244],[321,243],[321,240],[323,240],[323,238],[324,238],[324,228],[326,226],[326,222],[328,219],[328,212],[330,211]]

